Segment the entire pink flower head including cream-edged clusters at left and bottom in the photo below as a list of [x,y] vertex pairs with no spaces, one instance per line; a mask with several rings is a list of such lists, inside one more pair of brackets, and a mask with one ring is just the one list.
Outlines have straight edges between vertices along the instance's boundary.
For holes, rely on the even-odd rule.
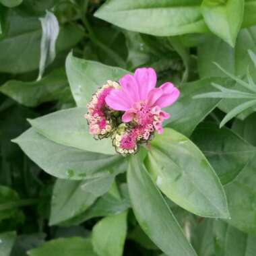
[[123,76],[119,84],[108,81],[94,94],[86,119],[94,137],[111,136],[117,152],[135,154],[155,131],[163,132],[162,123],[170,115],[162,108],[173,104],[180,92],[170,82],[156,88],[156,72],[146,67]]

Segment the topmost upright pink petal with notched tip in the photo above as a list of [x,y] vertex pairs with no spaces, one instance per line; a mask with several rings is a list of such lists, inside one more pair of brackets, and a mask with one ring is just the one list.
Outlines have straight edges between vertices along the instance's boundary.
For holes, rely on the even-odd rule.
[[141,67],[135,70],[134,77],[139,85],[139,99],[146,100],[150,90],[156,87],[156,71],[151,67]]

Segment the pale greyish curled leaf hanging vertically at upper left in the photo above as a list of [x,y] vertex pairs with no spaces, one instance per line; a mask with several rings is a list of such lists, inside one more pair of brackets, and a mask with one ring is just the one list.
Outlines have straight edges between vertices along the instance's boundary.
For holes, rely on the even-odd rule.
[[39,18],[42,26],[42,38],[40,43],[40,63],[38,80],[42,78],[44,69],[51,64],[55,57],[55,44],[59,36],[59,22],[56,16],[46,11],[44,18]]

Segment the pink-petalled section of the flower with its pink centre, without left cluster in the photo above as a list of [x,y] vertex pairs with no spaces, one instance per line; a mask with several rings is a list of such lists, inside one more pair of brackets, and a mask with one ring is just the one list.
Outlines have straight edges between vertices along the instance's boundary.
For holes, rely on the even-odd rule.
[[[180,95],[172,83],[166,82],[156,88],[156,72],[152,68],[139,68],[134,75],[124,75],[120,80],[121,88],[115,88],[106,96],[106,104],[119,111],[124,123],[133,122],[146,129],[152,125],[162,133],[162,122],[170,115],[162,108],[173,104]],[[145,133],[143,136],[147,136]]]

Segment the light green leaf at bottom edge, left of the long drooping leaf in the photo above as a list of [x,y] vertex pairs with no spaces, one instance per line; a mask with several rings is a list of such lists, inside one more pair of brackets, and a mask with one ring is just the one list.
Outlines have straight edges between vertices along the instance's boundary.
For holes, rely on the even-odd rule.
[[108,216],[92,229],[92,245],[98,256],[122,256],[127,232],[127,212]]

